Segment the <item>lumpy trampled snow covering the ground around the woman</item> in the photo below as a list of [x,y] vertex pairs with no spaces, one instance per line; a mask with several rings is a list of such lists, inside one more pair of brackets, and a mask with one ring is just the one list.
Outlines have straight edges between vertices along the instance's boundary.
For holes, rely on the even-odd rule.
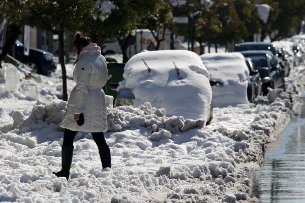
[[[111,169],[102,170],[90,133],[78,132],[69,181],[52,174],[61,167],[59,123],[67,105],[58,99],[60,65],[51,77],[21,79],[17,91],[0,97],[0,200],[257,202],[248,195],[251,182],[245,173],[260,166],[264,144],[289,122],[295,92],[302,91],[303,71],[300,66],[285,78],[288,93],[276,89],[254,104],[215,108],[207,126],[200,119],[167,117],[151,103],[109,105],[105,138]],[[5,79],[0,81],[4,87]],[[68,80],[69,91],[74,85]],[[22,93],[28,86],[38,87],[38,99]]]

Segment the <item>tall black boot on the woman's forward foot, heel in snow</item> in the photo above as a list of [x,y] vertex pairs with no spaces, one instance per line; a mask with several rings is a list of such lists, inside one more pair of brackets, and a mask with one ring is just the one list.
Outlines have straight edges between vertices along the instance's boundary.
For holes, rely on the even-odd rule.
[[62,170],[53,172],[58,178],[66,177],[67,181],[69,180],[73,149],[74,146],[62,146]]

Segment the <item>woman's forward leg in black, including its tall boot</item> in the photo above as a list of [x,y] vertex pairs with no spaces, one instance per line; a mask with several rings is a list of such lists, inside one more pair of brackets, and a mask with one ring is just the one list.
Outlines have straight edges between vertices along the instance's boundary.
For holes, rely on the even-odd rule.
[[69,180],[70,168],[73,157],[73,141],[76,136],[76,131],[65,129],[64,142],[62,146],[62,170],[59,172],[53,172],[57,177],[66,177]]

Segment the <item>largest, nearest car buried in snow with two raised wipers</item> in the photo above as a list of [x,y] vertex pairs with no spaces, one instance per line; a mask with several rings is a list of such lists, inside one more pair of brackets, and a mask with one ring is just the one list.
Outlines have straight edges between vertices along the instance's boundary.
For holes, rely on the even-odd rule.
[[166,116],[212,119],[209,74],[200,57],[188,50],[143,51],[125,64],[115,106],[148,102]]

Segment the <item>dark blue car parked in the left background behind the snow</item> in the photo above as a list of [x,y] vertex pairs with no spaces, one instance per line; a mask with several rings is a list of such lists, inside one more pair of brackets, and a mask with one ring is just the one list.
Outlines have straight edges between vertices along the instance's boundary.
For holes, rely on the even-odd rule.
[[23,49],[23,44],[17,40],[13,49],[14,54],[12,54],[12,50],[9,54],[29,66],[32,72],[48,75],[56,70],[56,61],[52,53],[41,49],[29,48],[29,54],[26,56]]

